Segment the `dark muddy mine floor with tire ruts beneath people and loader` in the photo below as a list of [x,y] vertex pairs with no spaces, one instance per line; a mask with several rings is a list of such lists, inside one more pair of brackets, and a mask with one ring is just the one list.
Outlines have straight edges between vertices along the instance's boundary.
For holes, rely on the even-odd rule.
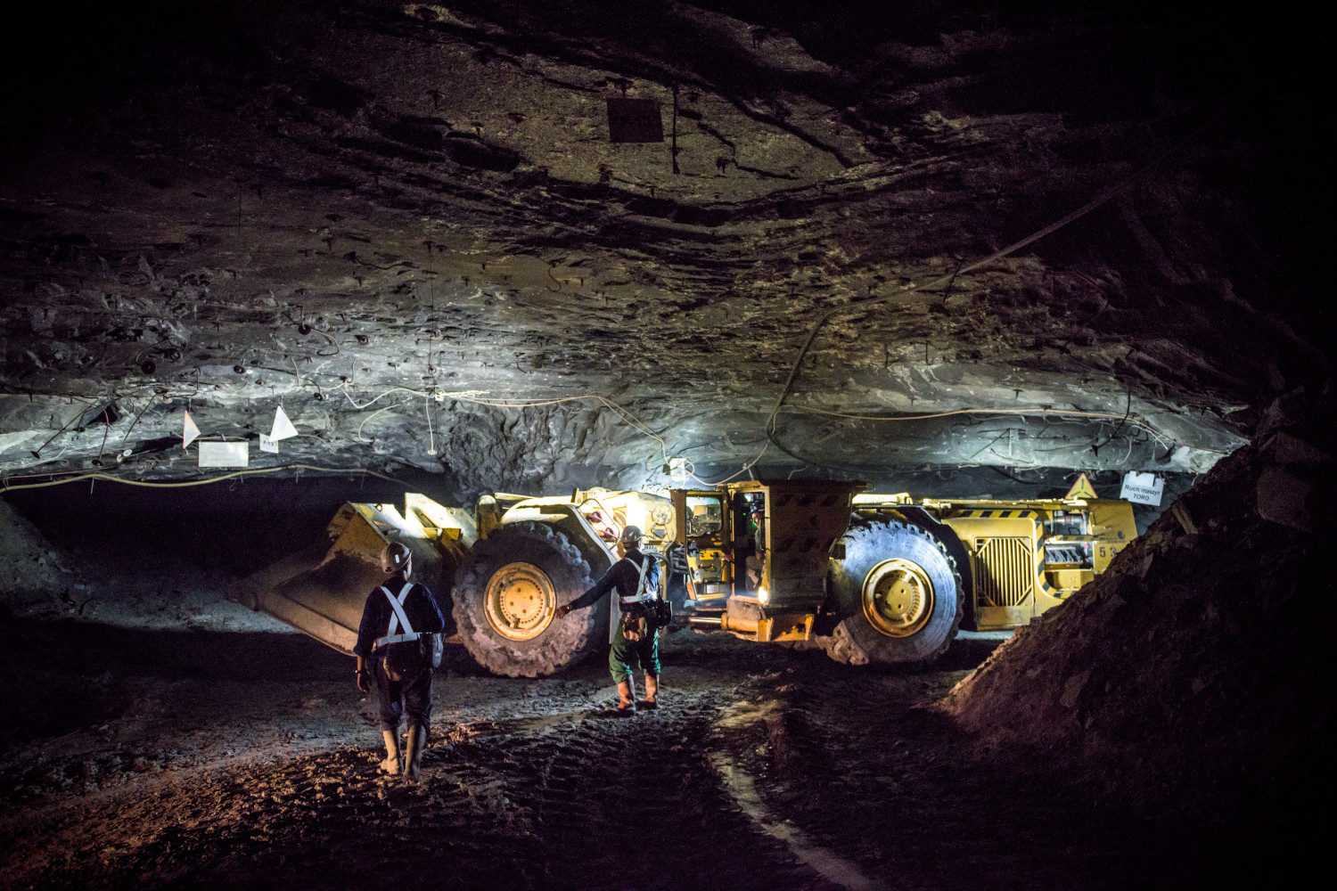
[[281,633],[17,620],[0,669],[0,887],[1148,888],[1199,840],[919,708],[933,667],[679,633],[663,707],[603,717],[602,660],[437,681],[424,783],[376,772],[352,660]]

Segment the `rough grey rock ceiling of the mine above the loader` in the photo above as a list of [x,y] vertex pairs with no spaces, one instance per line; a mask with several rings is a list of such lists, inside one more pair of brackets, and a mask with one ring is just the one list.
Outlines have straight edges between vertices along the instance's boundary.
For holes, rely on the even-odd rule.
[[183,409],[282,405],[253,466],[655,485],[783,391],[766,473],[1201,472],[1326,374],[1269,222],[1326,124],[1189,19],[987,9],[62,7],[3,100],[0,470],[198,474]]

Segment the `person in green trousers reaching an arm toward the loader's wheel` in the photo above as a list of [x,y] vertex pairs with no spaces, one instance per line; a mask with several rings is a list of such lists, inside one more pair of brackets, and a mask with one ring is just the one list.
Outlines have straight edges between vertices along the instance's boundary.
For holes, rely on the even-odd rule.
[[658,708],[659,695],[659,616],[655,610],[659,590],[659,564],[640,552],[642,532],[627,526],[618,541],[626,556],[608,568],[594,588],[570,604],[558,606],[558,617],[574,609],[592,606],[614,588],[618,589],[618,608],[622,617],[612,636],[608,652],[608,671],[618,683],[618,713],[630,715],[636,709],[636,683],[632,672],[636,663],[646,672],[646,699],[640,708]]

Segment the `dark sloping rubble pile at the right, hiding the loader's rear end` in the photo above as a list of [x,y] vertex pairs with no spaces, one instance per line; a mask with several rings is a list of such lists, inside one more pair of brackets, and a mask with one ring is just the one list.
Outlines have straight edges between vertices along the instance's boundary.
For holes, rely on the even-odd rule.
[[983,745],[1075,765],[1148,818],[1255,820],[1250,843],[1292,832],[1332,788],[1337,629],[1329,393],[1296,417],[1274,405],[1254,445],[941,708]]

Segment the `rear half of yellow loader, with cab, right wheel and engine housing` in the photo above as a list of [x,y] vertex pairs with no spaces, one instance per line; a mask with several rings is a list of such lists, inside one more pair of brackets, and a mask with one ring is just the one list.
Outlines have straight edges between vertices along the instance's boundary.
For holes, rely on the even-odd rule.
[[699,631],[901,663],[1059,605],[1136,537],[1116,500],[924,500],[862,484],[675,490],[683,613]]

